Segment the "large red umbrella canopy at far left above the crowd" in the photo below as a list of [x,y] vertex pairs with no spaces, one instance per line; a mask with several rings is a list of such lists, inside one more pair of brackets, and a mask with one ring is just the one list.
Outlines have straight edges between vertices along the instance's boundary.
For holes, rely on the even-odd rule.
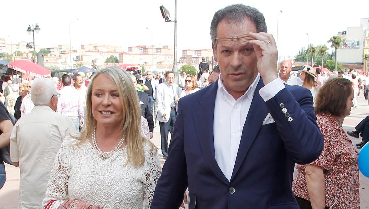
[[51,76],[50,70],[27,60],[13,61],[8,64],[8,68],[14,69],[21,73],[29,74],[35,77]]

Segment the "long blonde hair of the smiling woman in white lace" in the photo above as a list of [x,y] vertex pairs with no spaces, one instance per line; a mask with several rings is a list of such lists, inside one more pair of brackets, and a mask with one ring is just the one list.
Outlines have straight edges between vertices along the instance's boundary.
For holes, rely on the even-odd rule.
[[157,152],[156,146],[147,140],[141,132],[141,107],[139,104],[136,89],[132,83],[132,79],[128,72],[119,67],[106,67],[95,72],[86,92],[86,121],[85,128],[81,131],[78,144],[84,143],[92,137],[94,128],[97,124],[96,119],[92,115],[92,87],[95,79],[104,74],[110,78],[116,85],[119,99],[122,104],[123,120],[121,121],[121,134],[125,134],[124,144],[127,146],[127,163],[134,167],[143,165],[145,162],[145,153],[143,145],[149,143],[151,150]]

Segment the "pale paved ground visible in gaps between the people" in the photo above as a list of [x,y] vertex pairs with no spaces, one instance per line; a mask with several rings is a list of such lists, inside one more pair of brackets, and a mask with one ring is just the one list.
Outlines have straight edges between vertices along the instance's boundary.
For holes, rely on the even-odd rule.
[[[343,126],[346,131],[351,131],[354,126],[359,123],[365,116],[369,115],[368,103],[364,100],[361,94],[358,98],[358,108],[352,109],[351,115],[346,117]],[[357,144],[361,141],[361,138],[352,138],[352,143]],[[154,144],[160,150],[160,129],[157,124],[154,129]],[[0,190],[0,209],[17,209],[18,208],[18,192],[19,192],[19,169],[6,164],[7,181],[4,187]],[[360,174],[360,208],[369,208],[369,178],[364,177]]]

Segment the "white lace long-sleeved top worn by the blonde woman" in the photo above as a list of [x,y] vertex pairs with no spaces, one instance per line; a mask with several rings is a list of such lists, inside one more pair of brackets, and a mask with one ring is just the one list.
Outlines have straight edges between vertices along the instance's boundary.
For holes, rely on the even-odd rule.
[[87,140],[76,146],[76,139],[66,137],[55,157],[43,207],[57,209],[65,200],[83,200],[104,209],[148,209],[161,175],[157,153],[144,144],[145,163],[135,168],[127,164],[124,147],[102,160]]

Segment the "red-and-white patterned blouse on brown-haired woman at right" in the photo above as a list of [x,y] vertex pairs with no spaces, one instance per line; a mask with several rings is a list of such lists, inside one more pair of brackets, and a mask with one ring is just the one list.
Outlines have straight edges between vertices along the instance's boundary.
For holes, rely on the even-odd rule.
[[[310,164],[324,169],[325,206],[330,207],[337,200],[333,209],[359,209],[358,151],[332,115],[317,114],[317,123],[323,133],[324,148],[320,157]],[[310,200],[305,165],[298,164],[297,169],[292,190],[296,196]]]

